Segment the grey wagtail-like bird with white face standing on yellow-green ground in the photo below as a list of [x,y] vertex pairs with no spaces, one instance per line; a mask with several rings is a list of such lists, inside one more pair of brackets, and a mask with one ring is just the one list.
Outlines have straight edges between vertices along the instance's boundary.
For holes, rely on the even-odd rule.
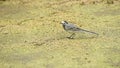
[[88,31],[88,30],[84,30],[84,29],[81,29],[77,26],[75,26],[74,24],[71,24],[67,21],[62,21],[61,22],[63,28],[65,31],[69,32],[69,33],[72,33],[72,35],[70,35],[68,38],[72,39],[74,36],[75,36],[75,33],[77,32],[81,32],[81,31],[84,31],[84,32],[89,32],[89,33],[92,33],[92,34],[96,34],[98,35],[97,33],[95,32],[92,32],[92,31]]

